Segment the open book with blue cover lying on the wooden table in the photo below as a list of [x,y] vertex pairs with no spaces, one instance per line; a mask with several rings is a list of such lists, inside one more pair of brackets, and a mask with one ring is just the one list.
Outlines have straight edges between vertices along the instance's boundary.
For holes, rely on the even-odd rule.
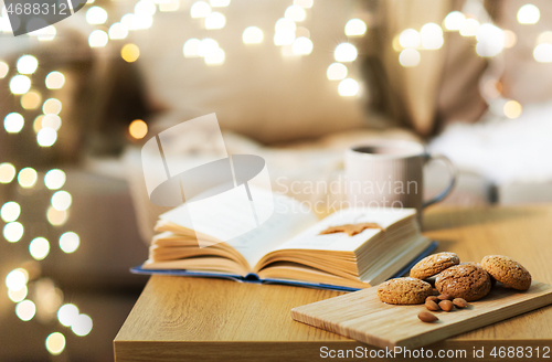
[[[226,242],[216,235],[240,222],[232,205],[213,210],[212,224],[193,225],[185,204],[162,214],[149,259],[132,272],[357,290],[404,273],[435,248],[414,209],[346,209],[318,221],[294,199],[274,198],[264,224]],[[355,235],[336,228],[363,223],[372,226]]]

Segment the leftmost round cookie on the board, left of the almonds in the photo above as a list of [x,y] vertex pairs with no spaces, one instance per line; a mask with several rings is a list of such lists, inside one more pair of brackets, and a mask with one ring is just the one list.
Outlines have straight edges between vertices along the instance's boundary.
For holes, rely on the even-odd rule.
[[416,278],[390,279],[378,287],[378,298],[390,305],[421,305],[431,295],[432,285]]

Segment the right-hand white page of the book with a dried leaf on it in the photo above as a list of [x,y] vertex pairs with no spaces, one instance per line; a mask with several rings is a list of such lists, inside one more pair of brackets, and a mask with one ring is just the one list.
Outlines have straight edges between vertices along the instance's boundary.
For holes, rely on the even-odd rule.
[[367,241],[381,233],[381,231],[379,228],[367,228],[353,236],[349,236],[346,233],[320,235],[320,232],[330,226],[357,223],[376,223],[388,228],[394,223],[414,215],[416,211],[414,209],[363,207],[341,210],[307,228],[288,242],[278,245],[276,249],[354,252]]

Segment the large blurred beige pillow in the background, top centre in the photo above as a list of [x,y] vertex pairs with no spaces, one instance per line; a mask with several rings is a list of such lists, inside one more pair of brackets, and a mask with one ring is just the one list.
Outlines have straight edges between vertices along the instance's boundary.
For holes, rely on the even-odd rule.
[[[344,25],[355,17],[357,1],[315,1],[306,9],[312,53],[285,56],[274,44],[276,21],[291,1],[232,1],[213,8],[226,18],[220,30],[204,29],[203,19],[192,19],[192,2],[182,1],[177,12],[159,12],[147,31],[136,31],[141,67],[150,100],[177,110],[182,120],[216,113],[225,129],[263,142],[312,138],[362,126],[363,100],[342,97],[339,81],[329,81],[333,51],[347,42]],[[264,39],[244,44],[242,34],[257,26]],[[299,32],[298,32],[299,33]],[[187,40],[214,39],[225,53],[222,65],[206,65],[201,57],[187,58]],[[357,62],[355,62],[357,63]],[[349,77],[360,82],[355,63],[347,63]]]

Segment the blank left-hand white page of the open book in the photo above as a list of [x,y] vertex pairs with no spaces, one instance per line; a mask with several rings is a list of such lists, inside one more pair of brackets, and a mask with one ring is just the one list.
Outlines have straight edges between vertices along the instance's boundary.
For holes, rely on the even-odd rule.
[[[191,210],[187,204],[162,214],[160,219],[226,242],[253,267],[267,252],[314,225],[317,217],[314,213],[301,210],[295,199],[273,194],[261,188],[250,188],[257,200],[255,203],[257,211],[265,204],[274,205],[272,216],[259,226],[255,226],[252,221],[251,209],[236,207],[232,198],[217,198],[217,202],[213,203],[209,211],[209,217],[202,217],[201,223],[190,216]],[[241,192],[238,188],[235,190]],[[274,203],[259,202],[266,201],[267,198],[273,198]],[[250,231],[241,233],[244,227]],[[234,236],[236,234],[238,235]]]

